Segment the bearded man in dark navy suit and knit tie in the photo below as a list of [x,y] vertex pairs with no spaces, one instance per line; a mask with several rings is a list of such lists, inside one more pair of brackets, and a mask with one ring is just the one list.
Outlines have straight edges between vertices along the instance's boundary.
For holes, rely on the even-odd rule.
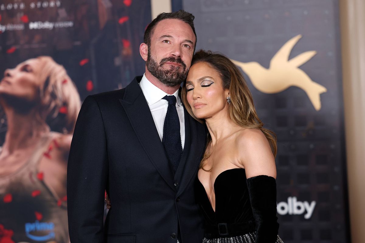
[[[71,242],[201,242],[193,184],[205,128],[178,91],[196,44],[194,16],[162,13],[140,46],[145,75],[85,99],[68,162]],[[104,190],[112,208],[103,227]]]

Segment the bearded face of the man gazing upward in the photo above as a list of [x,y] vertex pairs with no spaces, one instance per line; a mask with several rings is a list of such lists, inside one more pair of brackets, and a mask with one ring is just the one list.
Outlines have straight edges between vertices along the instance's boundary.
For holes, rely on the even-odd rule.
[[146,60],[147,70],[166,86],[180,85],[188,74],[195,35],[189,24],[177,19],[158,22]]

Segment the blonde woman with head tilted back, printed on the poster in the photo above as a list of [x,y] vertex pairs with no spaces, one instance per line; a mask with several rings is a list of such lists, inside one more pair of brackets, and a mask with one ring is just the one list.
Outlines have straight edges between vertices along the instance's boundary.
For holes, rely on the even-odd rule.
[[0,224],[15,242],[69,242],[66,166],[80,103],[65,68],[49,56],[5,70]]

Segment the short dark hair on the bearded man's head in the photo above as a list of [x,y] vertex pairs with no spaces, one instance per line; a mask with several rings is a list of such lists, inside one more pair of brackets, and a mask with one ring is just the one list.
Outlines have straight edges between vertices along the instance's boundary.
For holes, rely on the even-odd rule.
[[160,22],[161,20],[164,19],[178,19],[181,20],[187,24],[189,24],[189,26],[192,28],[194,35],[195,35],[195,45],[194,45],[194,50],[196,47],[196,33],[195,33],[195,28],[194,28],[194,15],[192,15],[189,12],[186,12],[184,10],[179,10],[177,12],[173,12],[173,13],[160,13],[159,15],[157,15],[157,17],[152,20],[152,22],[147,26],[146,31],[145,31],[145,35],[143,36],[143,42],[147,44],[148,47],[150,47],[151,45],[151,36],[153,35],[153,32],[156,28],[156,25],[158,22]]

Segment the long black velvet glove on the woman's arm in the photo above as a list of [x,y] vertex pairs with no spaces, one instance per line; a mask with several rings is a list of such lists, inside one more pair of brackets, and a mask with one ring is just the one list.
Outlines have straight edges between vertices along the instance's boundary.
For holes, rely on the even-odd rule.
[[276,181],[271,176],[254,176],[246,181],[256,224],[255,243],[275,243],[279,224],[276,217]]

